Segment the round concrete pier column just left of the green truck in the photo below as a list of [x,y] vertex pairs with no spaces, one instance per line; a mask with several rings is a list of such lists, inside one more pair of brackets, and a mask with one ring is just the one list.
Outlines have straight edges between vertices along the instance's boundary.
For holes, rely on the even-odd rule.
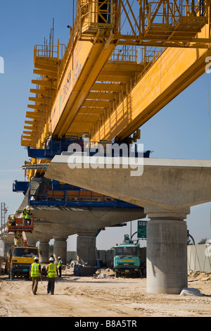
[[96,266],[96,234],[78,233],[77,236],[77,261]]

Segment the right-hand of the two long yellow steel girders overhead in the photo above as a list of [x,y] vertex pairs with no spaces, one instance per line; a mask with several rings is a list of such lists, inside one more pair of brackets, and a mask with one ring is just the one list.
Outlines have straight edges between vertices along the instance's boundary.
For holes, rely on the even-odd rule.
[[[209,35],[206,25],[200,35]],[[139,82],[104,120],[96,123],[91,139],[124,139],[205,73],[206,49],[165,49],[139,77]]]

